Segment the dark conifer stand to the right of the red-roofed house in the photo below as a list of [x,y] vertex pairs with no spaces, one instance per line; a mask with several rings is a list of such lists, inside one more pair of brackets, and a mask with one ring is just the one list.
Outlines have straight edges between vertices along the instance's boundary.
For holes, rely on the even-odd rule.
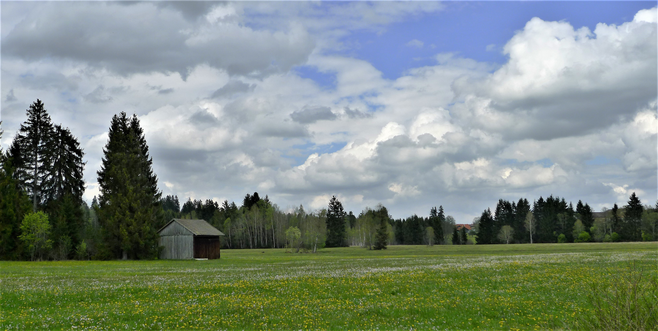
[[525,244],[541,242],[617,242],[654,241],[658,239],[658,202],[643,206],[635,192],[626,206],[614,204],[594,215],[587,204],[578,200],[576,207],[565,198],[540,196],[530,206],[525,198],[519,202],[498,200],[495,211],[482,211],[475,220],[478,244]]

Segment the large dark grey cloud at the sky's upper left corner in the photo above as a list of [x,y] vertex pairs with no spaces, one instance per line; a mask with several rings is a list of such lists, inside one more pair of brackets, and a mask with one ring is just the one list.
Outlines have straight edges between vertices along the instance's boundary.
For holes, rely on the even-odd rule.
[[199,64],[229,74],[286,71],[304,62],[315,47],[301,28],[276,33],[252,30],[231,20],[231,15],[214,18],[224,19],[221,24],[211,18],[186,19],[203,14],[207,6],[45,3],[3,36],[2,55],[76,60],[122,75],[178,72],[185,79]]

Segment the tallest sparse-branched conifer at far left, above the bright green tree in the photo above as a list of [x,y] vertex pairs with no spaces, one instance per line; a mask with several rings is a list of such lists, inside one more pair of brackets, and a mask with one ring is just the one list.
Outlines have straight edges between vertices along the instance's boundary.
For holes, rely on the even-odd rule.
[[40,189],[43,180],[48,175],[48,151],[51,146],[53,124],[43,102],[37,99],[26,110],[28,119],[20,125],[20,130],[14,138],[11,157],[15,178],[20,187],[32,197],[32,211],[36,212],[43,202]]

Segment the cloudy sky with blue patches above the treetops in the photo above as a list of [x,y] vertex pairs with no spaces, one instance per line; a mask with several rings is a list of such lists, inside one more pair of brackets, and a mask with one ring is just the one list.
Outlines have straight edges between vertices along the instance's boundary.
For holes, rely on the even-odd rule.
[[88,201],[124,111],[182,202],[654,204],[657,39],[655,1],[2,1],[0,146],[40,99]]

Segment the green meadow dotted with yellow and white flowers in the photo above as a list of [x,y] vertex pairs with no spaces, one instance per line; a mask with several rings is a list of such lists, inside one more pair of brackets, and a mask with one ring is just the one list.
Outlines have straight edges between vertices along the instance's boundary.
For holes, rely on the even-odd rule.
[[570,328],[658,244],[222,250],[211,261],[0,262],[0,329]]

